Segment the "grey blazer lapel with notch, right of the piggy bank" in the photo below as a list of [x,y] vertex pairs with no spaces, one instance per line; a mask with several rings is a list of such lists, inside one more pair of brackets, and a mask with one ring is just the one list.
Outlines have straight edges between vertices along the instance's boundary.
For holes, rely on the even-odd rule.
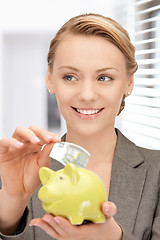
[[146,178],[146,167],[135,144],[117,130],[109,201],[117,206],[115,220],[133,230]]

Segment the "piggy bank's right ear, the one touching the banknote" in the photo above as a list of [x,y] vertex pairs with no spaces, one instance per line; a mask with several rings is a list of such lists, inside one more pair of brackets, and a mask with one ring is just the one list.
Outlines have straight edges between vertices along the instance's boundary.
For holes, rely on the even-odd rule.
[[76,184],[79,181],[80,175],[78,169],[73,163],[67,164],[64,168],[64,172],[70,177],[73,184]]

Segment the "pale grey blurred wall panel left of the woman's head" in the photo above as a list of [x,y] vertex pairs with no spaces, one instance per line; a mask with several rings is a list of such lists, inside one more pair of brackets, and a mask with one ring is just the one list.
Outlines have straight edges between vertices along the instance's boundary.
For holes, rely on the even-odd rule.
[[46,128],[48,39],[39,34],[5,34],[3,38],[3,135],[10,136],[19,125]]

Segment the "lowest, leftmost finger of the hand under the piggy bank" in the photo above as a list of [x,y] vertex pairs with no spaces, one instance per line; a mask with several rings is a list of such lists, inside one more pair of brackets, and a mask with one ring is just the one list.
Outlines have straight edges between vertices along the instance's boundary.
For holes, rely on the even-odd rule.
[[43,231],[45,231],[47,234],[49,234],[51,237],[58,239],[59,234],[56,232],[56,230],[50,226],[46,221],[40,218],[32,219],[29,226],[36,226],[40,227]]

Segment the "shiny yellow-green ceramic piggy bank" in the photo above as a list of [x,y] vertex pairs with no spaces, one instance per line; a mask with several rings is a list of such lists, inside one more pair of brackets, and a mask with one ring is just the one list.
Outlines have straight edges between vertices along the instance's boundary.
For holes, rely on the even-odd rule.
[[69,163],[56,172],[42,167],[39,176],[43,186],[38,197],[46,212],[65,217],[73,225],[80,225],[84,220],[105,221],[101,207],[106,201],[106,191],[96,174]]

